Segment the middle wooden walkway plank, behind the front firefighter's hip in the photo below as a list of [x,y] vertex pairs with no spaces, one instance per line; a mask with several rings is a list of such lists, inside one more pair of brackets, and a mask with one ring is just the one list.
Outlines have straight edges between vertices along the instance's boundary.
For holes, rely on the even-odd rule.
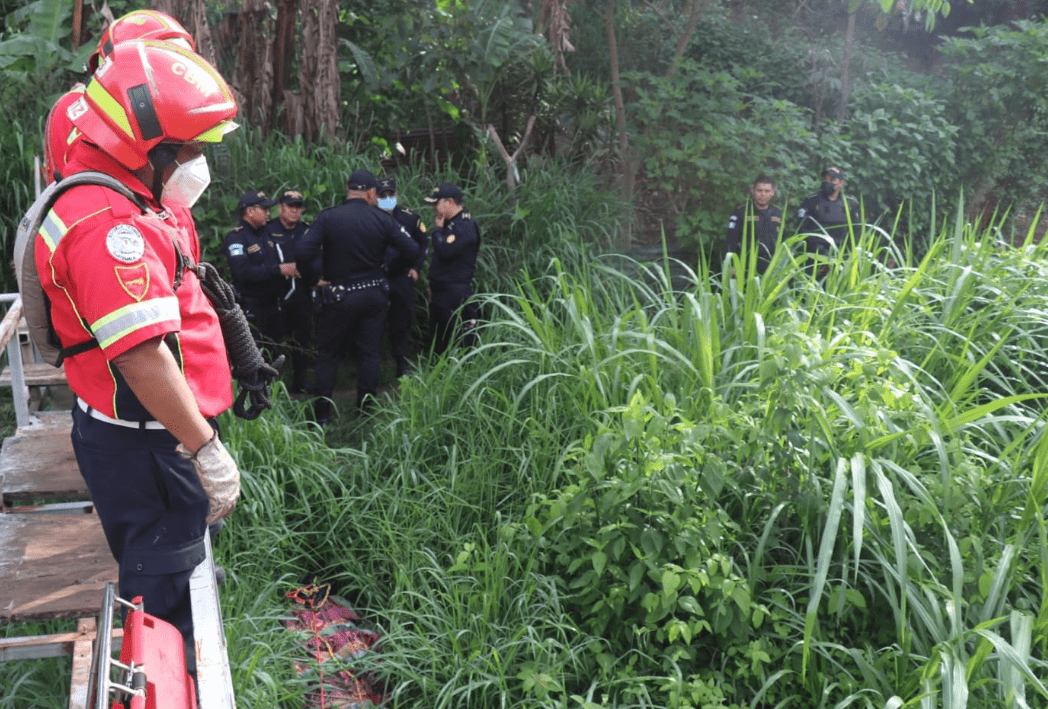
[[42,412],[32,421],[4,439],[0,449],[2,506],[28,501],[89,500],[69,439],[69,412]]

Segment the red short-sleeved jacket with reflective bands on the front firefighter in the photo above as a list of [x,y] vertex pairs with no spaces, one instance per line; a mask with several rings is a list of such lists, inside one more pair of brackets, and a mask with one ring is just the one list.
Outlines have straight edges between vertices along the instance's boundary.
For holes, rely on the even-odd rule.
[[65,360],[69,386],[89,406],[131,421],[153,417],[124,381],[113,358],[158,335],[167,338],[200,413],[217,416],[233,403],[222,332],[196,275],[183,270],[174,290],[178,253],[196,263],[200,242],[189,209],[162,209],[149,190],[94,146],[78,141],[67,174],[96,170],[141,195],[156,214],[141,214],[123,195],[99,185],[63,194],[37,234],[41,285],[63,347],[97,340]]

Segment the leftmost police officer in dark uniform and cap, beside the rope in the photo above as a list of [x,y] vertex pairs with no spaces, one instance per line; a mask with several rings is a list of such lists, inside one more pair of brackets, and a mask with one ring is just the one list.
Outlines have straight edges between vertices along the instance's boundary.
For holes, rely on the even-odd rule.
[[233,286],[260,347],[284,339],[281,296],[287,291],[287,280],[296,274],[294,264],[281,263],[276,245],[262,229],[276,203],[263,192],[245,192],[238,203],[240,223],[225,235]]

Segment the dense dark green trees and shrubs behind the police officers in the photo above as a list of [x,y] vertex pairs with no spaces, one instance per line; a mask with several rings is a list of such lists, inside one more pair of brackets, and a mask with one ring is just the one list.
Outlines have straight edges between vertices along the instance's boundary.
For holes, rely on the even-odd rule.
[[[109,4],[117,14],[134,5]],[[501,2],[441,2],[435,9],[415,0],[380,9],[346,5],[339,26],[346,130],[319,150],[363,153],[372,163],[385,155],[391,164],[424,163],[437,172],[449,165],[467,174],[504,172],[488,126],[512,152],[533,116],[518,169],[554,156],[609,185],[635,171],[626,203],[636,208],[626,219],[645,238],[664,229],[707,254],[719,248],[725,215],[759,173],[778,181],[779,201],[789,207],[817,186],[823,167],[837,164],[847,171],[847,191],[863,198],[868,221],[893,221],[902,206],[908,226],[921,231],[930,213],[910,209],[908,200],[927,204],[939,196],[941,218],[952,209],[942,196],[963,189],[971,215],[998,208],[1025,217],[1048,189],[1039,177],[1045,173],[1039,87],[1046,79],[1048,37],[1043,20],[1003,24],[1017,17],[1009,3],[954,3],[940,18],[951,36],[940,39],[924,27],[934,15],[920,7],[939,3],[901,12],[879,1],[813,0],[778,8],[745,0],[698,2],[692,41],[677,61],[674,48],[684,27],[669,18],[691,4],[571,3],[567,26],[576,51],[563,54],[564,66],[544,41],[553,31],[544,22],[555,4],[530,10]],[[602,21],[609,6],[617,36],[627,39],[618,43],[626,154],[616,135]],[[847,48],[842,29],[849,7],[857,8],[858,31]],[[1025,17],[1045,10],[1039,2],[1023,7]],[[43,114],[60,91],[82,79],[79,67],[90,49],[90,41],[77,52],[64,48],[68,3],[39,0],[12,9],[0,44],[0,141],[13,185],[3,197],[0,239],[8,249],[15,220],[32,194]],[[238,19],[219,9],[209,14],[221,40],[217,59],[239,86],[238,23],[254,23],[259,41],[267,42],[274,18]],[[101,16],[89,18],[86,29],[95,31]],[[999,24],[962,32],[964,21]],[[290,60],[284,68],[289,76],[298,71],[293,51]],[[267,133],[270,126],[256,128]],[[261,155],[259,162],[269,164]],[[224,201],[254,186],[245,182],[259,181],[245,177],[216,174],[235,181]],[[301,173],[279,180],[300,186],[312,181]],[[614,241],[620,243],[617,235]]]

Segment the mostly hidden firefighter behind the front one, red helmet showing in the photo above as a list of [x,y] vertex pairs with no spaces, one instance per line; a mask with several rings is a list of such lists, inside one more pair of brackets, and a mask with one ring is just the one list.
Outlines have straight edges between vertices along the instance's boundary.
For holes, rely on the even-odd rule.
[[[117,44],[132,40],[163,40],[185,49],[196,49],[196,42],[178,20],[155,9],[136,9],[114,20],[102,32],[99,47],[87,60],[87,69],[94,72],[99,62],[109,56]],[[66,156],[81,133],[67,115],[69,107],[84,93],[77,84],[59,96],[44,121],[44,180],[47,184],[66,174]]]

